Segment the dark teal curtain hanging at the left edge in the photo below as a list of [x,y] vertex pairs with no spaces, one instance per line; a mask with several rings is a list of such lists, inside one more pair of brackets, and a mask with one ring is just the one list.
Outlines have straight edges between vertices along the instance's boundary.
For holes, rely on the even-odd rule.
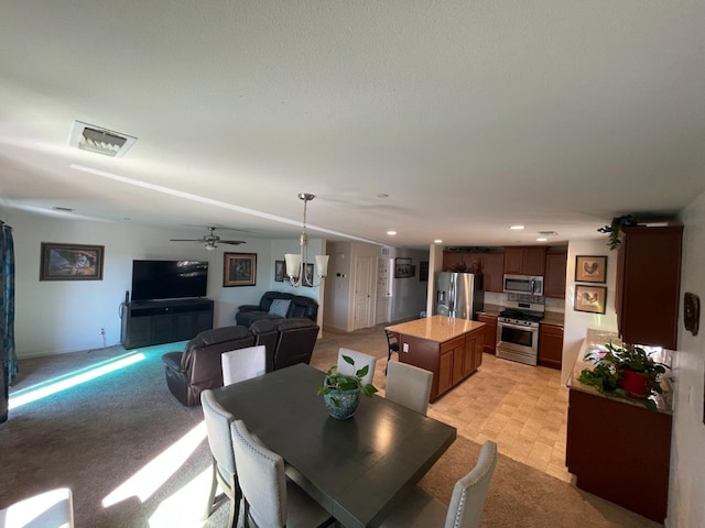
[[0,421],[8,418],[9,385],[18,375],[14,350],[14,242],[12,228],[0,222]]

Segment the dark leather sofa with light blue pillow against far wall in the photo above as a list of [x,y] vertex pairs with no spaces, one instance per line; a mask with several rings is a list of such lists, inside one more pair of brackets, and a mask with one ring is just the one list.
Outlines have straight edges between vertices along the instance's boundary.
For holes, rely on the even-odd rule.
[[[280,308],[280,310],[276,310]],[[259,305],[242,305],[238,307],[235,322],[249,327],[260,319],[299,319],[305,317],[316,322],[318,302],[311,297],[293,295],[285,292],[265,292]]]

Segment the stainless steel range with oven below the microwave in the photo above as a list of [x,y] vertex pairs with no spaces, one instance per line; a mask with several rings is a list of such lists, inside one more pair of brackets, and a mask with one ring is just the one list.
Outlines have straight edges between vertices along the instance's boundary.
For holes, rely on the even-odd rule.
[[510,294],[505,307],[497,317],[497,358],[536,365],[543,297]]

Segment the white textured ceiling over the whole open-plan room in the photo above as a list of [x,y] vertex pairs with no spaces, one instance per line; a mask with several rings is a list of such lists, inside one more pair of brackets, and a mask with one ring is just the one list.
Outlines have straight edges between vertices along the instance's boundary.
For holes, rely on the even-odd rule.
[[703,190],[702,0],[0,3],[6,217],[560,243]]

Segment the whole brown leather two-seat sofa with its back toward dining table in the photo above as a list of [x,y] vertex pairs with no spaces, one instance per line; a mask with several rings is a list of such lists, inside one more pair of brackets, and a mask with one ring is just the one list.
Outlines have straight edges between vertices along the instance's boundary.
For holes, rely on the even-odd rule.
[[162,362],[169,389],[183,405],[199,405],[203,391],[223,386],[220,354],[246,346],[264,345],[267,372],[278,367],[278,356],[285,366],[308,363],[318,326],[307,318],[280,322],[262,319],[252,322],[250,328],[234,326],[205,330],[188,341],[183,352],[165,353]]

